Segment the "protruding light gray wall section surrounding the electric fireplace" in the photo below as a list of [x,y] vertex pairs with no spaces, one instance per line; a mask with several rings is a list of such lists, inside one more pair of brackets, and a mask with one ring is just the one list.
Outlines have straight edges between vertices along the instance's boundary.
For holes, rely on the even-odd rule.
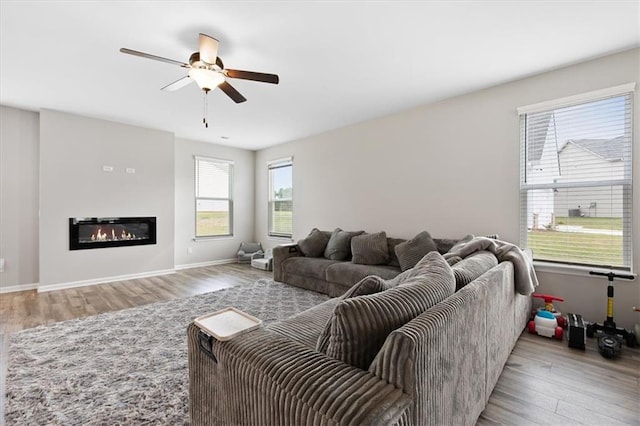
[[[40,286],[173,269],[173,143],[167,132],[41,111]],[[156,216],[157,244],[69,251],[70,217],[114,216]]]

